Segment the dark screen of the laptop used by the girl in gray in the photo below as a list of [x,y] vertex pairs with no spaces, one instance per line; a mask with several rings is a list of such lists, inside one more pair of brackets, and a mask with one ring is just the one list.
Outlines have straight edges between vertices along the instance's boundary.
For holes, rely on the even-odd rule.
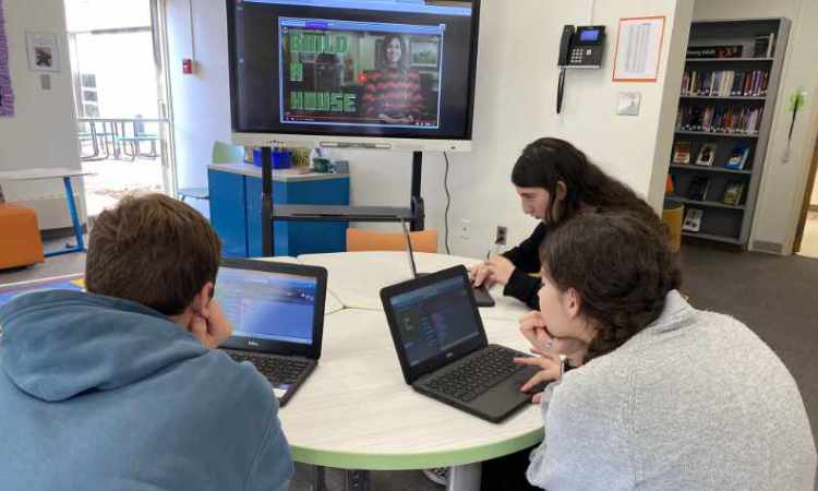
[[480,336],[480,327],[460,276],[389,299],[410,367]]

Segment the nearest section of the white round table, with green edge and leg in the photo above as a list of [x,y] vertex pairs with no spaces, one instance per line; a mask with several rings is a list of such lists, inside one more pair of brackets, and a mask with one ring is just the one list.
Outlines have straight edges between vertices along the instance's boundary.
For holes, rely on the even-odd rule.
[[[490,343],[528,349],[516,322],[483,324]],[[325,318],[318,367],[279,416],[296,462],[363,470],[450,466],[447,489],[462,491],[479,490],[482,460],[543,435],[539,406],[494,424],[414,392],[404,381],[386,316],[376,310]]]

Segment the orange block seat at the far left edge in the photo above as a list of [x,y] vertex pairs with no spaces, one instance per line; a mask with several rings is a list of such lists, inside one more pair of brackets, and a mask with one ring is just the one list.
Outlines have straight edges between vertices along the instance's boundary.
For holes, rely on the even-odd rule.
[[0,270],[45,261],[34,209],[0,203]]

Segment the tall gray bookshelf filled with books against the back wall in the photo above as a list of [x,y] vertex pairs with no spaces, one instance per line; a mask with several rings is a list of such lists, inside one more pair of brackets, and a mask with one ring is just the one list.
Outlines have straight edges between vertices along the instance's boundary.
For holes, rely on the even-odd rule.
[[[783,17],[690,25],[665,196],[702,212],[683,237],[747,248],[789,34]],[[700,154],[709,165],[696,165]]]

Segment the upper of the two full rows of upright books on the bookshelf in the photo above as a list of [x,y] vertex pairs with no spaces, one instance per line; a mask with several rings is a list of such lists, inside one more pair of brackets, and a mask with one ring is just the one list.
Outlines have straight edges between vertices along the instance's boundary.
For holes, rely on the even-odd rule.
[[767,70],[686,71],[682,76],[682,95],[763,97],[769,79]]

